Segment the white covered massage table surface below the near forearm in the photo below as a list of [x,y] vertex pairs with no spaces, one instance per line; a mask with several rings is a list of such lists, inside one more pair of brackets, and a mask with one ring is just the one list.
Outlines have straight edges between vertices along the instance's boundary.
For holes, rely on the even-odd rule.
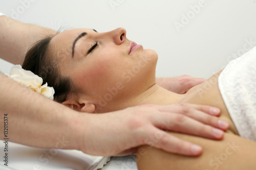
[[76,150],[48,150],[8,141],[8,166],[4,165],[5,143],[0,140],[0,169],[4,170],[96,170],[110,157],[91,156]]

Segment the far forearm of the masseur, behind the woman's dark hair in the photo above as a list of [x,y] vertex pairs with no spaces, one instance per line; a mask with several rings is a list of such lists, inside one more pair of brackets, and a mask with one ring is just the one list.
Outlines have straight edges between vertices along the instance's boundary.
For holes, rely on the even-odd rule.
[[28,48],[55,31],[0,16],[0,58],[13,64],[23,64]]

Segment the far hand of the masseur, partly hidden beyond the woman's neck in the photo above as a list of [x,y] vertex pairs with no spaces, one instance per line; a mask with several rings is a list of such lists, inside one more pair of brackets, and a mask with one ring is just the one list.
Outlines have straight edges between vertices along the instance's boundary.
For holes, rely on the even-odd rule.
[[157,78],[156,83],[169,91],[184,94],[190,88],[203,83],[205,80],[206,79],[203,78],[194,78],[188,75],[183,75],[178,77]]

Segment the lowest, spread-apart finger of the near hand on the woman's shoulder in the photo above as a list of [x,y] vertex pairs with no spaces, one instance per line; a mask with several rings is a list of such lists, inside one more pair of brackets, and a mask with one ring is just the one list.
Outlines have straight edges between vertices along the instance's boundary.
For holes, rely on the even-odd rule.
[[197,156],[203,151],[200,145],[182,140],[157,128],[152,129],[152,132],[153,134],[151,136],[157,136],[155,140],[145,141],[145,144],[150,145],[150,147],[187,156]]

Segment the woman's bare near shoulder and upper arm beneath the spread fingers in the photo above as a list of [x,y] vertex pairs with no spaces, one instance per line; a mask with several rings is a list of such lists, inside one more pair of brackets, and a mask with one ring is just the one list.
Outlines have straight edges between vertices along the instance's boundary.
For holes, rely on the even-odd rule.
[[256,142],[234,134],[225,134],[223,140],[210,140],[197,136],[169,132],[181,139],[203,147],[199,157],[170,154],[149,146],[142,146],[137,154],[139,170],[147,169],[255,169]]

